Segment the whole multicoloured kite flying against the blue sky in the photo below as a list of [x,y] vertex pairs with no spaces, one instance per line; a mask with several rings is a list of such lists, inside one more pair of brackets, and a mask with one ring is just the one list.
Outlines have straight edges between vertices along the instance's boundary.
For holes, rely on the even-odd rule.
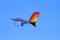
[[15,18],[15,19],[11,19],[15,22],[21,22],[21,26],[23,26],[24,24],[32,24],[34,27],[36,27],[36,22],[38,20],[40,12],[33,12],[32,16],[30,17],[29,21],[23,20],[21,18]]

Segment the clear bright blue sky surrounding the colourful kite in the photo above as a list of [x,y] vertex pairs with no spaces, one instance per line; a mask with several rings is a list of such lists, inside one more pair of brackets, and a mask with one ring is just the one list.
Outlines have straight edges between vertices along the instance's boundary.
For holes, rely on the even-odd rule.
[[[14,26],[11,18],[29,20],[34,11],[36,28]],[[60,0],[0,0],[0,40],[60,40]]]

